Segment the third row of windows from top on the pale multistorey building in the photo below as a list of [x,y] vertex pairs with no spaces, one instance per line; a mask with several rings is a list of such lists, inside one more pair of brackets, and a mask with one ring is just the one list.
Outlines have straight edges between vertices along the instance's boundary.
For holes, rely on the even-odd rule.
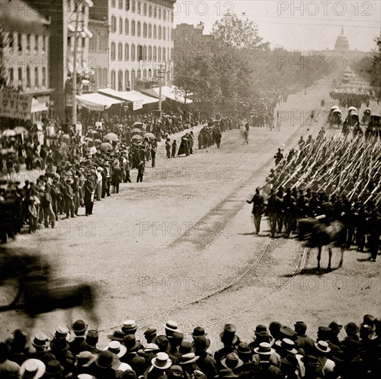
[[[116,59],[116,54],[118,54],[118,59]],[[115,42],[111,43],[111,61],[155,61],[164,62],[167,59],[173,57],[173,48],[157,48],[156,46],[142,46],[133,43],[131,46],[128,43],[118,43],[118,52],[116,52]]]

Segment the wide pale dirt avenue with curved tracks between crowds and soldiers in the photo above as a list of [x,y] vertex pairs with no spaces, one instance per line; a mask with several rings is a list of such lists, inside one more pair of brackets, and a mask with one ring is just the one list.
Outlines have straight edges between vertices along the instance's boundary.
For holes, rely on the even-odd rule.
[[[274,167],[277,148],[287,153],[300,135],[315,136],[324,125],[323,116],[311,125],[300,119],[319,111],[322,99],[321,112],[334,105],[331,80],[289,96],[277,107],[279,130],[277,125],[273,131],[251,127],[248,145],[239,130],[231,130],[223,133],[220,149],[198,150],[200,127],[195,127],[193,155],[167,159],[159,147],[157,167],[148,163],[143,183],[134,183],[132,170],[133,183],[95,203],[92,216],[81,209],[80,216],[59,221],[55,229],[17,236],[9,249],[47,256],[68,284],[80,279],[97,285],[100,323],[90,327],[100,331],[102,347],[128,319],[137,320],[141,340],[150,325],[162,334],[167,320],[175,320],[184,333],[203,326],[216,349],[227,322],[251,342],[255,325],[273,320],[291,327],[304,320],[315,331],[333,320],[345,325],[364,314],[378,316],[380,260],[371,263],[365,260],[369,254],[351,249],[344,253],[343,267],[335,269],[335,251],[333,271],[317,276],[316,252],[293,238],[269,240],[266,218],[260,235],[254,235],[246,204]],[[323,254],[322,267],[327,261]],[[6,289],[1,296],[8,296]],[[86,313],[54,311],[39,316],[33,329],[50,334],[76,318],[86,320]],[[5,336],[27,322],[17,311],[4,312],[0,330]]]

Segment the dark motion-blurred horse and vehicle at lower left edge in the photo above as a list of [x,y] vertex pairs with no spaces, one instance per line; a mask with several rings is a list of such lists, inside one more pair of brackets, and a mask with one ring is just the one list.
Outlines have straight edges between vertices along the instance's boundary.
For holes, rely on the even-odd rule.
[[[0,287],[11,289],[0,306],[0,313],[18,309],[34,320],[40,314],[56,309],[79,307],[90,320],[99,324],[95,311],[95,285],[80,280],[55,278],[52,265],[39,254],[0,252]],[[3,299],[4,300],[4,299]]]

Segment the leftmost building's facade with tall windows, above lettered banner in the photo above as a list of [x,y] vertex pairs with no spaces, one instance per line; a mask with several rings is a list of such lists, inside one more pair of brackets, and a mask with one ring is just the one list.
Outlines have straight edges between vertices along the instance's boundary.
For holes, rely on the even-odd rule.
[[[4,8],[3,65],[8,84],[20,93],[32,96],[32,121],[46,116],[50,104],[49,45],[50,20],[21,0]],[[8,13],[8,14],[7,14]]]

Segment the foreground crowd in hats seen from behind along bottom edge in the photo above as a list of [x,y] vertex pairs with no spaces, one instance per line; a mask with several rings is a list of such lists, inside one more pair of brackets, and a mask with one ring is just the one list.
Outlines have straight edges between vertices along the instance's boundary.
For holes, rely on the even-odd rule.
[[[381,372],[381,320],[369,314],[360,325],[340,322],[318,327],[304,321],[293,328],[271,322],[242,338],[226,324],[218,338],[203,327],[182,333],[177,322],[148,327],[139,338],[135,320],[99,346],[99,332],[83,320],[57,327],[51,336],[16,330],[0,343],[1,379],[358,379]],[[308,330],[308,333],[307,333]],[[144,338],[144,340],[141,340]],[[217,349],[211,349],[211,339]]]

